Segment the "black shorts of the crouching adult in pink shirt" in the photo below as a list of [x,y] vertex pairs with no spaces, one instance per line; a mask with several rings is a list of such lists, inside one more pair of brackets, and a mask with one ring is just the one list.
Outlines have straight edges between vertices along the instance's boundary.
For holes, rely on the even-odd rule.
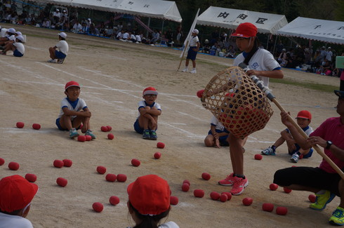
[[291,167],[277,170],[274,173],[274,183],[284,187],[289,185],[302,185],[325,189],[340,196],[338,182],[340,181],[338,173],[326,173],[321,168],[312,167]]

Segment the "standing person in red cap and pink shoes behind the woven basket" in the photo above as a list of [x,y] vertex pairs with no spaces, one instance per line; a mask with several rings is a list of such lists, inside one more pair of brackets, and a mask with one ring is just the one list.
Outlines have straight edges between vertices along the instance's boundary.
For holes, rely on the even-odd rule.
[[[249,70],[246,72],[249,76],[256,75],[263,81],[264,86],[269,86],[269,78],[282,79],[284,75],[273,55],[263,48],[258,48],[260,43],[256,35],[257,27],[249,22],[240,24],[231,35],[235,37],[237,47],[242,51],[235,58],[234,66],[244,62],[249,66]],[[214,90],[207,95],[210,96],[219,92]],[[247,137],[241,139],[232,134],[228,137],[233,173],[227,175],[224,180],[220,180],[218,184],[233,186],[230,191],[233,195],[242,194],[244,188],[249,185],[249,181],[244,175],[244,144],[246,139]]]

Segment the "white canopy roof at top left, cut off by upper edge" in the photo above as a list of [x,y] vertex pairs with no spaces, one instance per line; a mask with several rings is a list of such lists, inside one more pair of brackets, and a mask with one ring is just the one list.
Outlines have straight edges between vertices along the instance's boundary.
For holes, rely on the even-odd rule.
[[89,8],[98,11],[126,13],[182,22],[176,2],[161,0],[35,0],[62,6]]

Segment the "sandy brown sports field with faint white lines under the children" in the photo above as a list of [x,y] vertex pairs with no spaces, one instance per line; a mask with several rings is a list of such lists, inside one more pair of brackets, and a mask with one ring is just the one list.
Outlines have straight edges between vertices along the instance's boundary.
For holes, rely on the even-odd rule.
[[[8,27],[8,25],[1,25]],[[232,173],[228,147],[204,147],[210,128],[211,112],[201,106],[197,90],[206,86],[217,72],[229,67],[233,60],[211,55],[197,56],[197,74],[177,72],[180,51],[172,48],[126,43],[93,36],[67,34],[70,53],[62,65],[46,62],[48,48],[58,42],[58,31],[35,27],[15,27],[27,34],[23,58],[0,56],[1,121],[0,157],[6,163],[0,167],[0,177],[34,173],[39,192],[32,201],[28,219],[34,227],[127,227],[133,225],[128,217],[126,187],[136,177],[157,174],[168,180],[173,196],[179,203],[172,206],[167,220],[180,227],[330,227],[327,220],[338,206],[338,197],[322,212],[309,208],[309,192],[290,194],[282,188],[270,191],[274,172],[294,165],[289,161],[286,145],[278,148],[277,156],[253,159],[277,140],[284,129],[279,110],[272,104],[274,114],[267,126],[249,136],[244,154],[244,169],[249,187],[240,196],[222,203],[212,201],[213,191],[226,192],[230,187],[217,184]],[[286,79],[339,85],[339,79],[291,69],[284,69]],[[70,140],[67,132],[58,130],[55,119],[60,101],[65,97],[67,81],[81,84],[81,98],[92,112],[91,126],[97,136],[91,142]],[[159,91],[157,102],[162,107],[159,117],[158,140],[143,140],[133,130],[138,114],[137,104],[142,91],[154,86]],[[316,128],[326,118],[336,114],[337,97],[333,93],[270,83],[281,105],[296,116],[301,109],[313,115],[311,126]],[[15,123],[25,122],[25,128]],[[40,123],[40,130],[32,124]],[[101,126],[112,126],[114,140],[107,140]],[[164,149],[157,149],[164,142]],[[161,159],[153,154],[161,152]],[[55,159],[72,159],[70,168],[54,168]],[[139,167],[131,166],[139,159]],[[8,163],[20,163],[17,171]],[[322,157],[316,152],[297,166],[317,166]],[[124,173],[126,182],[107,182],[105,175],[96,173],[105,166],[107,173]],[[201,173],[211,179],[201,179]],[[66,187],[56,185],[56,179],[68,180]],[[190,191],[182,192],[183,180],[191,182]],[[195,198],[194,189],[204,189],[204,198]],[[111,206],[110,196],[121,200]],[[253,204],[244,206],[242,199],[252,197]],[[95,213],[92,204],[104,204],[102,213]],[[286,206],[286,216],[265,212],[263,203]]]

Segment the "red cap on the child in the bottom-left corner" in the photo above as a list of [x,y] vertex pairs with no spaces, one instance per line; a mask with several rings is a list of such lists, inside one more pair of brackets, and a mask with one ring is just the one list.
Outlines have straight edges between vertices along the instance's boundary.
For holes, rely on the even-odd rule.
[[20,175],[4,177],[0,180],[0,210],[11,213],[25,208],[37,192],[38,186]]

